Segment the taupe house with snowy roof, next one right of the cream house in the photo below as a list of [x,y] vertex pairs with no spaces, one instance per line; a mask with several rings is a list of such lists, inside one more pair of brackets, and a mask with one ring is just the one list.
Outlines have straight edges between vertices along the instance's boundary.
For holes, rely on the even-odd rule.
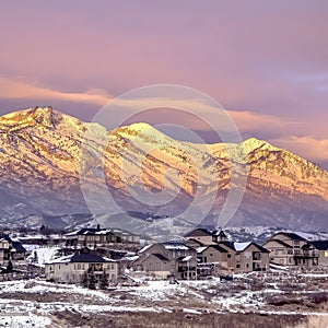
[[133,269],[159,278],[196,279],[197,253],[181,243],[159,243],[143,247]]

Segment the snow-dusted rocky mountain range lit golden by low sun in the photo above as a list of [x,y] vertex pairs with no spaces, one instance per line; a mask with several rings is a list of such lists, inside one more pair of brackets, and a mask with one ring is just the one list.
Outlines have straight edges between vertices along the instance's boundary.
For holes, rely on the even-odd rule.
[[232,185],[243,188],[243,178],[231,178],[243,174],[238,167],[247,188],[229,224],[327,230],[328,172],[293,153],[257,139],[226,147],[180,142],[147,124],[107,131],[51,107],[0,117],[0,224],[79,213],[85,220],[92,208],[142,213],[136,220],[155,218],[157,225],[179,214],[184,229],[215,225]]

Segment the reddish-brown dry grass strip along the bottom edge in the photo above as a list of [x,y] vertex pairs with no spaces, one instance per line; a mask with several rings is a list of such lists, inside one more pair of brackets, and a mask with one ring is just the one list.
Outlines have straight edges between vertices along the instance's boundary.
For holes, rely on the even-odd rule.
[[[92,327],[92,328],[284,328],[306,324],[301,315],[278,316],[258,314],[202,314],[192,315],[181,311],[174,313],[110,313],[83,316],[69,311],[57,315],[62,327]],[[60,326],[59,326],[60,327]],[[303,327],[303,326],[296,326]],[[320,327],[320,326],[317,326]]]

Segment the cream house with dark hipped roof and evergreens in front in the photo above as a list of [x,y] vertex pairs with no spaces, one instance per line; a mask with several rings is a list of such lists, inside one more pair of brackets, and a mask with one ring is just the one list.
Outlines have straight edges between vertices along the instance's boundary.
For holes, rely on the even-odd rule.
[[73,254],[45,263],[46,278],[55,282],[81,283],[83,276],[92,271],[98,281],[104,272],[109,281],[117,281],[118,263],[95,254]]

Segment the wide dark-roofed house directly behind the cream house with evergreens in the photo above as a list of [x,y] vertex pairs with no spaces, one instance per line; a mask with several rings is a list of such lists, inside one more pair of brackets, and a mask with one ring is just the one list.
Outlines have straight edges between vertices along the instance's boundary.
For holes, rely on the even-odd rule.
[[66,234],[67,247],[139,248],[140,236],[120,229],[83,227]]

